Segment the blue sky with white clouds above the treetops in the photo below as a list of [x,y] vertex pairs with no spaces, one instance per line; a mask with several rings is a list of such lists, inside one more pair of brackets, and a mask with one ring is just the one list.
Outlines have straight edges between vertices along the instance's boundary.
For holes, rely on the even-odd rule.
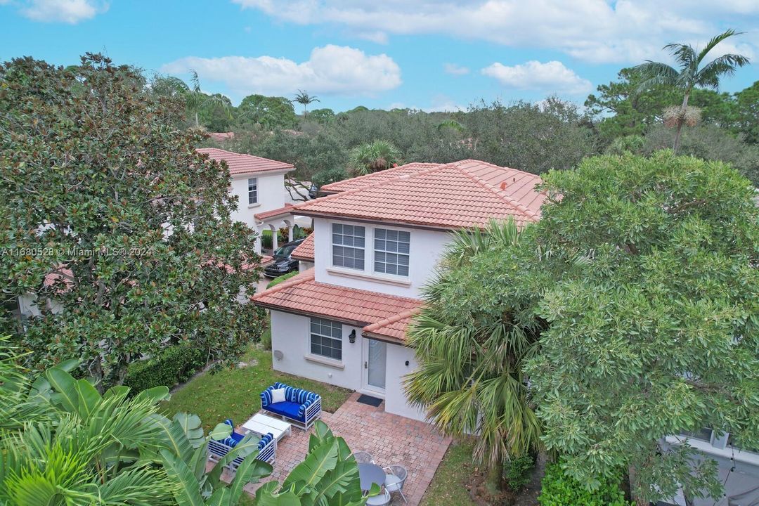
[[[554,93],[581,103],[623,66],[667,61],[666,42],[703,46],[727,27],[746,33],[716,54],[759,58],[756,0],[0,0],[0,24],[2,61],[104,52],[185,80],[194,68],[234,103],[302,89],[335,111]],[[754,80],[759,61],[723,90]]]

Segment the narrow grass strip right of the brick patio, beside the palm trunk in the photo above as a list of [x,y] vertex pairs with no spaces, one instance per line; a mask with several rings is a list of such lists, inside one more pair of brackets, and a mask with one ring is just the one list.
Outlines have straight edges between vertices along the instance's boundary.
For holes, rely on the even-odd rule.
[[473,448],[474,442],[468,439],[451,443],[420,506],[476,506],[466,487],[474,472]]

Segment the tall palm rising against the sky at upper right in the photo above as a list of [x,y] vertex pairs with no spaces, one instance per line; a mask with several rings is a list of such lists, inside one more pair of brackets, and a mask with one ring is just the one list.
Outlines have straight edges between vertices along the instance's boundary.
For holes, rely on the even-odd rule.
[[696,52],[696,49],[688,44],[667,44],[663,49],[672,53],[679,65],[679,70],[670,67],[668,64],[650,60],[635,67],[635,70],[643,78],[640,86],[638,86],[637,93],[650,90],[651,87],[660,84],[675,86],[684,93],[682,105],[665,112],[665,121],[677,127],[673,146],[675,152],[677,152],[680,143],[682,125],[696,124],[700,118],[698,109],[688,108],[688,98],[691,96],[694,87],[716,90],[720,86],[720,77],[731,76],[735,74],[737,68],[750,63],[749,59],[743,55],[726,54],[714,58],[703,68],[699,68],[704,58],[717,44],[734,35],[739,35],[739,33],[735,33],[735,30],[732,29],[721,33],[711,39],[707,46],[701,49],[701,52]]

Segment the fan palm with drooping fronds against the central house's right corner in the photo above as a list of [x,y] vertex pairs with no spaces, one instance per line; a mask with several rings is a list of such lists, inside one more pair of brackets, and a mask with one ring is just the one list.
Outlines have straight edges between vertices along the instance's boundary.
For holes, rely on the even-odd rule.
[[442,259],[438,277],[424,290],[425,306],[408,330],[418,368],[405,378],[409,400],[446,435],[474,434],[474,457],[490,469],[487,487],[503,488],[503,465],[540,449],[541,426],[530,405],[522,363],[534,354],[537,335],[510,314],[492,317],[478,307],[452,313],[443,302],[458,288],[474,256],[494,247],[515,247],[513,221],[487,230],[459,231]]

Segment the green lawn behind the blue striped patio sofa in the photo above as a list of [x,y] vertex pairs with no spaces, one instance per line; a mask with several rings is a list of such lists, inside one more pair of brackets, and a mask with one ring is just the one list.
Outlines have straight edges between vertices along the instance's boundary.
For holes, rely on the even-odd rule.
[[271,352],[255,344],[248,347],[241,360],[255,360],[257,364],[197,376],[172,394],[171,400],[163,403],[162,411],[169,417],[180,411],[195,413],[208,431],[226,418],[238,425],[253,416],[261,408],[260,393],[274,382],[320,394],[322,409],[329,413],[334,413],[351,394],[345,388],[272,370]]

